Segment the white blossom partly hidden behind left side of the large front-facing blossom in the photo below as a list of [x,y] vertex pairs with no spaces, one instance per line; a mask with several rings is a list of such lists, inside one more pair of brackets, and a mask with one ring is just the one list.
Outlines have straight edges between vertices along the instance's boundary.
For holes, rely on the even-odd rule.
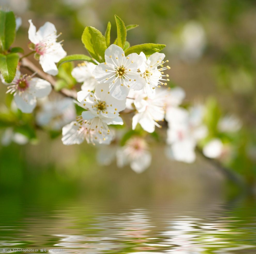
[[92,72],[96,65],[90,62],[84,62],[75,67],[71,75],[76,79],[77,82],[83,82],[81,89],[86,91],[93,91],[99,82],[94,78]]

